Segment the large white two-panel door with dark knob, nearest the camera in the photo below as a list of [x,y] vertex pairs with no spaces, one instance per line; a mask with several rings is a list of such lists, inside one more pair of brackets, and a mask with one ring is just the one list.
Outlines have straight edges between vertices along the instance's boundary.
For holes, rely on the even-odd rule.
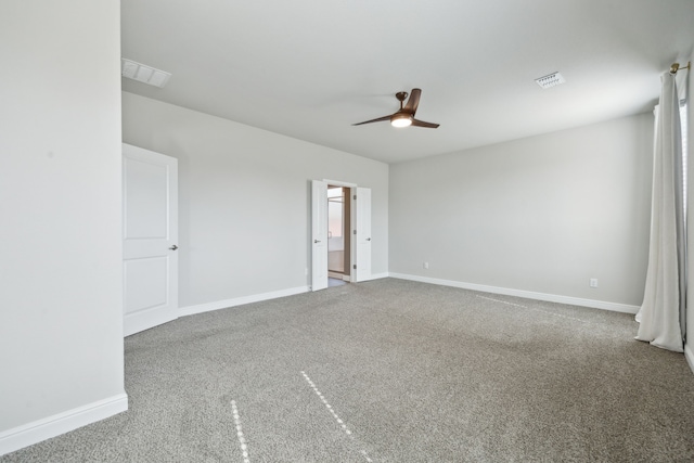
[[178,159],[123,145],[126,336],[178,317]]

